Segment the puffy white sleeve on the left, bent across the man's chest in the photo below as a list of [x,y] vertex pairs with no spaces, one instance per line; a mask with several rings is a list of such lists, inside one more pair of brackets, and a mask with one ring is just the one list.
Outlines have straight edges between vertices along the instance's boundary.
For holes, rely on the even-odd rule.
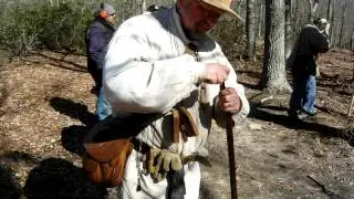
[[105,95],[117,112],[165,113],[196,90],[205,64],[188,54],[160,59],[162,48],[148,41],[147,32],[154,27],[145,32],[140,21],[138,24],[126,21],[110,43],[104,66]]

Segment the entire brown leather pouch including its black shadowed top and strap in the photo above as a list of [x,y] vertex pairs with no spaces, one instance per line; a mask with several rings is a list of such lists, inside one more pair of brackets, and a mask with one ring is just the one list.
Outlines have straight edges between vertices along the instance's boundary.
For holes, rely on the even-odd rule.
[[160,114],[132,114],[126,118],[112,116],[97,123],[84,138],[83,168],[88,178],[105,187],[122,185],[133,139]]

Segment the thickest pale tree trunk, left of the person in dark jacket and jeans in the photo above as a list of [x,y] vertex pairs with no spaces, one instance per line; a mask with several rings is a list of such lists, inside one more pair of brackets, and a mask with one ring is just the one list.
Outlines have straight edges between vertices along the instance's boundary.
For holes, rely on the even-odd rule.
[[285,73],[284,1],[266,0],[264,60],[261,86],[271,93],[291,91]]

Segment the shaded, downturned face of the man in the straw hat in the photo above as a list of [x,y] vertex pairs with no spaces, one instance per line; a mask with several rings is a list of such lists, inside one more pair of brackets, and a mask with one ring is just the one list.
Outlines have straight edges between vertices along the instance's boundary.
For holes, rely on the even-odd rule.
[[214,28],[223,13],[201,0],[179,0],[177,6],[184,28],[196,34],[204,34]]

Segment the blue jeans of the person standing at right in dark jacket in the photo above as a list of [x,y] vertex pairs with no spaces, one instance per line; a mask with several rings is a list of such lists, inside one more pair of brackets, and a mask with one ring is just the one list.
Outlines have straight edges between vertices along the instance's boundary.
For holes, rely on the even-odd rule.
[[314,75],[302,74],[293,76],[293,92],[290,98],[290,112],[303,108],[306,112],[314,112],[314,101],[316,93],[316,77]]

